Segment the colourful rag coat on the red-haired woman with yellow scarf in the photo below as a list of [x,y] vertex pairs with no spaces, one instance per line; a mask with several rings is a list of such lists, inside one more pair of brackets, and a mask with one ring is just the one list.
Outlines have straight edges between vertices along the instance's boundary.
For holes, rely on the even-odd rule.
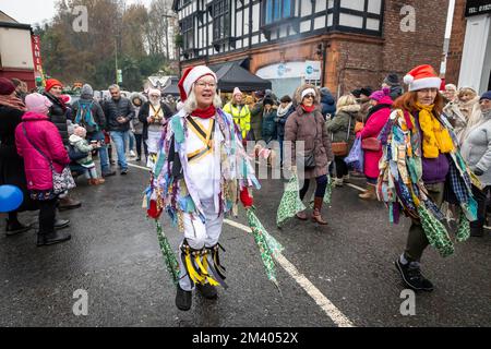
[[[445,181],[444,200],[460,207],[457,241],[469,236],[469,220],[476,220],[477,203],[472,197],[475,178],[460,156],[457,139],[444,115],[438,117],[451,134],[454,151],[447,154],[450,170]],[[422,180],[421,131],[414,115],[400,109],[393,110],[381,132],[383,155],[379,163],[379,200],[390,210],[390,221],[398,222],[403,212],[419,220],[430,244],[441,255],[453,253],[453,242],[443,225],[444,214],[431,200]]]

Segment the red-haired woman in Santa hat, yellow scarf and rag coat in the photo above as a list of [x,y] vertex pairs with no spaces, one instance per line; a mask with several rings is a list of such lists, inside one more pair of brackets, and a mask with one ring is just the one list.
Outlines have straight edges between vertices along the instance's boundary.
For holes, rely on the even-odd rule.
[[431,65],[412,69],[404,77],[409,91],[394,101],[390,122],[381,133],[383,156],[378,195],[386,202],[392,222],[402,210],[411,218],[406,249],[395,265],[414,290],[432,291],[420,270],[421,256],[431,244],[442,256],[454,252],[443,225],[444,201],[460,207],[457,241],[469,237],[476,219],[471,176],[458,149],[453,128],[442,113],[440,77]]

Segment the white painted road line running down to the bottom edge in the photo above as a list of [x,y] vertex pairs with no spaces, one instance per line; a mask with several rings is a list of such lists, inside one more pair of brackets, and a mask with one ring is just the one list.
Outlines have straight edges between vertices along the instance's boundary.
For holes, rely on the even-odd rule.
[[[240,222],[224,219],[224,222],[229,226],[239,228],[241,230],[251,232],[251,228],[244,226]],[[331,317],[331,320],[339,327],[355,327],[355,325],[343,314],[336,305],[334,305],[327,297],[322,294],[322,292],[303,275],[301,274],[294,264],[291,264],[283,254],[276,256],[278,264],[290,275],[294,280],[300,285],[301,288],[309,294],[315,303]]]

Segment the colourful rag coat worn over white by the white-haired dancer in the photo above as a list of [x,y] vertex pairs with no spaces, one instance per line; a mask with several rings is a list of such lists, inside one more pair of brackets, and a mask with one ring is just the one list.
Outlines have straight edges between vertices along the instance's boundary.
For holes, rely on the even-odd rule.
[[[261,185],[231,116],[217,109],[214,118],[211,146],[215,164],[220,164],[219,174],[209,179],[209,185],[214,189],[215,209],[217,214],[231,212],[237,215],[240,191],[250,186],[260,189]],[[196,215],[205,221],[195,183],[188,176],[188,113],[182,109],[165,123],[156,165],[144,198],[149,217],[158,218],[166,210],[180,231],[183,231],[183,213]]]

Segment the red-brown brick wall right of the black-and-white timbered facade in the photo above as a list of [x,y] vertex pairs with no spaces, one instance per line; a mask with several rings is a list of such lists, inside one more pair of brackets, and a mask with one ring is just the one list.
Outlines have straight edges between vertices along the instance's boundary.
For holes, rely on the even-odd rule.
[[[400,9],[407,4],[415,8],[415,32],[400,31],[405,16],[400,15]],[[337,71],[343,70],[339,75],[342,94],[360,86],[379,88],[386,74],[395,72],[402,79],[419,64],[431,64],[438,73],[447,9],[448,0],[385,1],[381,46],[348,41],[334,45],[339,56]]]

